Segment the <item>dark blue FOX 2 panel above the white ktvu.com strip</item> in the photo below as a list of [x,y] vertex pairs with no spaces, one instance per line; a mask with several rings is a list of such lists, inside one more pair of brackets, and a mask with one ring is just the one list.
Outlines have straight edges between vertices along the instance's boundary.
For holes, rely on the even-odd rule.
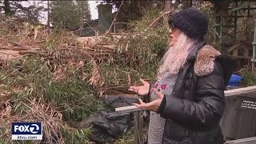
[[14,122],[12,134],[42,134],[41,122]]

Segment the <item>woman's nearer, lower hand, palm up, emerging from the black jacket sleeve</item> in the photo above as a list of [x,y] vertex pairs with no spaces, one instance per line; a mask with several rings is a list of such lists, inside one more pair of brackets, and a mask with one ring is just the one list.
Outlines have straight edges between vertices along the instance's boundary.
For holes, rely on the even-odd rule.
[[141,108],[142,110],[151,110],[151,111],[154,111],[156,112],[162,102],[162,98],[163,98],[163,94],[161,94],[160,92],[158,92],[158,90],[154,89],[154,94],[156,94],[158,96],[158,99],[152,101],[152,102],[148,102],[148,103],[145,103],[142,101],[141,98],[139,98],[139,102],[140,104],[138,103],[134,103],[134,106],[137,106],[138,108]]

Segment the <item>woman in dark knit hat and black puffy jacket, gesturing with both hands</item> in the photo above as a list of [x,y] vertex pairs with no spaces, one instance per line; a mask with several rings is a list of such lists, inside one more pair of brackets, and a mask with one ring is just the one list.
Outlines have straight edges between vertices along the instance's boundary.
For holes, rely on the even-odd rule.
[[170,48],[158,69],[158,81],[129,90],[149,95],[151,102],[135,103],[150,110],[149,144],[223,144],[219,121],[224,90],[235,63],[204,36],[208,18],[194,8],[180,10],[169,19]]

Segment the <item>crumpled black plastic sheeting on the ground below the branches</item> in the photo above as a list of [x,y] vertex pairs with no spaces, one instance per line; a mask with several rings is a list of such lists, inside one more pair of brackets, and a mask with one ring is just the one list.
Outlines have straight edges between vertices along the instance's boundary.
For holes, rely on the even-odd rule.
[[102,111],[79,122],[79,128],[92,126],[90,140],[97,143],[114,142],[114,139],[126,134],[132,125],[130,114]]

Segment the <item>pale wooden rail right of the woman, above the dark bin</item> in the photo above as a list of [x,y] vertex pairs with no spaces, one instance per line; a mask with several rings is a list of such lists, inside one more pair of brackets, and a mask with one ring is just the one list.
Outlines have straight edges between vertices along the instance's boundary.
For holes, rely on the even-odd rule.
[[234,96],[239,94],[247,94],[251,92],[256,93],[256,86],[243,87],[243,88],[234,89],[234,90],[225,90],[224,94],[226,97],[229,97],[229,96]]

